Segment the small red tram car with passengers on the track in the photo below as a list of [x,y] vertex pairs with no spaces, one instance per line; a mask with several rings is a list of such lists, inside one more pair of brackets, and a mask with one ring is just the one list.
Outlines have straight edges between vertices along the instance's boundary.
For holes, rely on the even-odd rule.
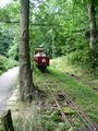
[[44,52],[44,48],[35,48],[34,60],[36,66],[44,71],[49,67],[49,57]]

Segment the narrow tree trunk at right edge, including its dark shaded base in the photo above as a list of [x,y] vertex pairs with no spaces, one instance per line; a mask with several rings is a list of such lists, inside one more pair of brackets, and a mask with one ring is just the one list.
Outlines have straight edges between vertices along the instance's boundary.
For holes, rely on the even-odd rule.
[[97,49],[97,26],[96,26],[96,11],[94,0],[88,3],[88,16],[89,16],[89,28],[90,28],[90,60],[91,68],[98,67],[98,49]]

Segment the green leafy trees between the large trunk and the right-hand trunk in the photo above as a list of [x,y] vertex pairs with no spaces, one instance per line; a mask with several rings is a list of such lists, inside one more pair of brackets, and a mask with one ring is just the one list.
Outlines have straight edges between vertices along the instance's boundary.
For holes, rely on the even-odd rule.
[[32,48],[42,44],[51,58],[68,56],[72,64],[89,68],[93,63],[96,64],[97,61],[89,56],[87,3],[88,1],[79,0],[46,0],[38,3],[38,10],[34,5],[34,25],[30,25],[30,28],[34,27],[30,34]]

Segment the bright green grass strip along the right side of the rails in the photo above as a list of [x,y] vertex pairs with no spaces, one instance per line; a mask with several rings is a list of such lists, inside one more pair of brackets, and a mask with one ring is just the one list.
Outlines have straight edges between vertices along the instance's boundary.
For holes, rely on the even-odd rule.
[[[58,64],[56,66],[58,68],[53,66],[48,68],[46,78],[52,76],[58,80],[70,97],[87,111],[94,122],[98,122],[98,92],[72,78],[68,72],[61,71]],[[41,73],[38,76],[37,83],[41,84],[44,82],[40,79]]]

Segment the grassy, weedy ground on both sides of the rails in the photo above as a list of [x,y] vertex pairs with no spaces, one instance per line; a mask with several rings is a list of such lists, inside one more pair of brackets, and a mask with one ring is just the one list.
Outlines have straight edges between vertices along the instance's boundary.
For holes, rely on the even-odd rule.
[[[87,73],[76,71],[61,61],[58,64],[54,60],[45,73],[35,68],[33,79],[37,92],[32,104],[23,104],[17,97],[16,100],[11,100],[14,102],[11,107],[8,106],[12,110],[15,131],[87,131],[83,129],[83,122],[77,119],[74,110],[61,100],[65,114],[72,119],[73,126],[68,127],[58,112],[47,85],[56,96],[59,94],[58,86],[62,87],[90,120],[98,124],[98,78]],[[15,96],[19,96],[19,90]]]

